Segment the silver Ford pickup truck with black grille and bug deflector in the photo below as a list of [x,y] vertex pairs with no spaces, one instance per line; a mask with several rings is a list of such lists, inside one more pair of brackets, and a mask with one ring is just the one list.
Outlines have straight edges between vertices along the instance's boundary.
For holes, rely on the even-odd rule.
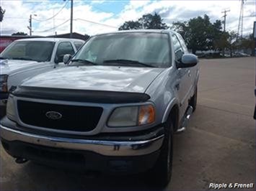
[[1,142],[16,162],[113,173],[166,185],[172,140],[197,102],[198,58],[169,30],[98,34],[67,67],[9,95]]

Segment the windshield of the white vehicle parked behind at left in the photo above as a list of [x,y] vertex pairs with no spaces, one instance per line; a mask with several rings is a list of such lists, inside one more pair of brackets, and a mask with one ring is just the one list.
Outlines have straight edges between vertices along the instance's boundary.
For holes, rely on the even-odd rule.
[[1,52],[1,59],[10,60],[35,60],[48,62],[53,52],[55,42],[20,41],[13,42]]

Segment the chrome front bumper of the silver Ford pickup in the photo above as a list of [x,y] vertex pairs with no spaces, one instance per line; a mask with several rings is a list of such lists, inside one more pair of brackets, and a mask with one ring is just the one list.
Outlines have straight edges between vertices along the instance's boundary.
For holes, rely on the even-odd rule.
[[164,134],[145,141],[100,141],[30,134],[2,125],[0,125],[0,128],[1,138],[7,141],[23,141],[41,146],[90,151],[105,156],[140,156],[150,154],[159,150],[164,141]]

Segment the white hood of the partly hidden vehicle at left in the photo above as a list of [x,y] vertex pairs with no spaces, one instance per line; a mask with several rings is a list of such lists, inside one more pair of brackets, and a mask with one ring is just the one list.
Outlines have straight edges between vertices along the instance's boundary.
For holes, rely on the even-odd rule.
[[27,60],[0,60],[1,74],[12,74],[16,71],[25,70],[36,65],[41,65],[42,62],[27,61]]

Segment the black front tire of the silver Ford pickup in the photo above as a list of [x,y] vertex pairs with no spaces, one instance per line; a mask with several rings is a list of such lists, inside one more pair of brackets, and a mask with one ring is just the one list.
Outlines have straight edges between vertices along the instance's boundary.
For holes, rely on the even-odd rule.
[[164,142],[156,161],[155,166],[149,173],[149,180],[153,185],[165,187],[168,185],[172,176],[172,138],[173,138],[173,122],[169,118],[164,126]]

